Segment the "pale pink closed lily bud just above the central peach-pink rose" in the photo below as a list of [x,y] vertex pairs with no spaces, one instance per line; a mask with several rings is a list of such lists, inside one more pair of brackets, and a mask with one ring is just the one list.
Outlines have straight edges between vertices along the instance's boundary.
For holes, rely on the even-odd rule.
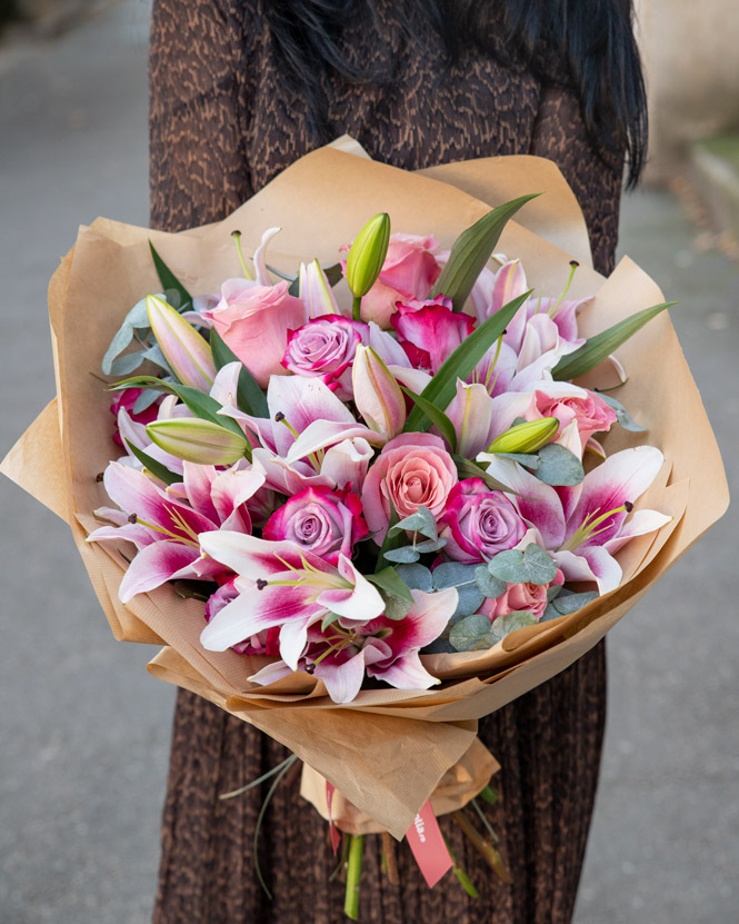
[[367,426],[386,440],[402,430],[406,398],[392,372],[371,347],[357,347],[351,372],[354,404]]

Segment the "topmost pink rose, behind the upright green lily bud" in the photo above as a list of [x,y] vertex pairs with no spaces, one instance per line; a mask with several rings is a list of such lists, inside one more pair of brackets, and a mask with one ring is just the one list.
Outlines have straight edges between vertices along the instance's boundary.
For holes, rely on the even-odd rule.
[[362,298],[363,320],[387,329],[397,301],[428,298],[441,272],[431,252],[438,247],[433,236],[391,235],[380,276]]

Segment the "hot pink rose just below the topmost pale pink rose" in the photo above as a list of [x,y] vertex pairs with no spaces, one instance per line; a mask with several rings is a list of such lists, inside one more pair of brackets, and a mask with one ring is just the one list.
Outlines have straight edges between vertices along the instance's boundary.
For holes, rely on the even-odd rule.
[[452,311],[442,296],[420,306],[399,304],[390,324],[413,368],[432,374],[475,330],[475,318]]

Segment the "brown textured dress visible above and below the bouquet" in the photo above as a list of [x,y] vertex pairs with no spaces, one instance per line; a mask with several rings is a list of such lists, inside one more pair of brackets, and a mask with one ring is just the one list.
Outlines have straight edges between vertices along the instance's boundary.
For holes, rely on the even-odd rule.
[[[377,159],[409,169],[492,155],[555,160],[582,206],[596,267],[616,246],[622,163],[602,159],[567,88],[543,87],[499,48],[468,54],[446,78],[436,33],[401,32],[392,0],[375,30],[347,29],[349,54],[395,59],[391,86],[329,88],[337,136],[349,132]],[[505,63],[503,63],[505,61]],[[311,148],[301,99],[286,98],[261,0],[154,0],[151,34],[151,220],[171,231],[223,218]],[[572,915],[598,779],[605,723],[602,645],[568,670],[480,722],[502,764],[491,813],[512,875],[503,885],[457,828],[442,829],[480,897],[452,875],[430,891],[406,845],[401,885],[380,873],[380,838],[366,839],[360,920],[378,924],[566,924]],[[261,863],[252,864],[264,795],[221,802],[277,765],[286,749],[246,723],[180,692],[154,924],[346,921],[327,826],[284,784],[267,815]]]

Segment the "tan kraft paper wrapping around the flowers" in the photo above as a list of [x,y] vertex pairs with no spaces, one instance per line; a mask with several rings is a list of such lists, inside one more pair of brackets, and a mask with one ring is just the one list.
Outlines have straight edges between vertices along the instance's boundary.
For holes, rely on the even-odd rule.
[[[672,520],[657,535],[626,546],[620,554],[625,583],[579,613],[519,629],[489,652],[427,656],[427,667],[446,680],[431,690],[362,690],[339,707],[326,696],[322,683],[306,674],[259,687],[248,677],[264,658],[202,649],[204,606],[180,599],[170,586],[120,604],[117,592],[126,560],[114,549],[84,542],[97,525],[92,510],[108,503],[96,475],[116,456],[110,396],[90,372],[99,370],[123,315],[160,288],[149,238],[190,291],[214,292],[223,279],[241,275],[230,236],[237,228],[244,250],[253,252],[266,228],[281,226],[270,262],[294,271],[301,258],[334,262],[339,246],[378,211],[390,213],[393,230],[433,232],[448,249],[490,206],[545,191],[520,212],[520,222],[509,223],[497,248],[522,259],[536,289],[561,291],[569,261],[577,257],[582,265],[571,296],[595,294],[581,315],[586,335],[663,300],[656,284],[629,259],[608,280],[592,270],[582,215],[549,161],[491,158],[420,176],[348,150],[351,145],[308,155],[218,225],[178,235],[107,219],[81,228],[49,291],[57,398],[1,470],[69,523],[114,636],[163,645],[149,665],[154,676],[198,693],[280,741],[357,807],[366,819],[357,824],[373,819],[400,838],[458,762],[451,777],[459,783],[459,775],[467,773],[468,793],[480,773],[495,766],[476,743],[477,719],[589,650],[721,516],[728,489],[700,396],[663,312],[619,350],[629,374],[619,399],[649,430],[629,434],[617,427],[607,437],[607,450],[649,443],[665,453],[660,478],[637,506],[668,513]],[[605,370],[595,370],[590,378],[597,382],[599,375]],[[467,771],[465,761],[471,762]],[[306,794],[319,811],[322,798],[324,811],[324,785],[310,779],[309,772]]]

